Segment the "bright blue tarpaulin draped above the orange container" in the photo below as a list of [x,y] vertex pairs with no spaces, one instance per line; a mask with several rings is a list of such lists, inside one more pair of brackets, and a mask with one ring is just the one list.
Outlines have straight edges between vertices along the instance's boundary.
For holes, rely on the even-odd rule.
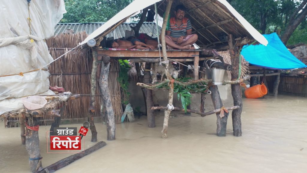
[[276,33],[263,35],[269,44],[264,46],[245,45],[241,54],[251,64],[272,69],[293,69],[307,67],[282,43]]

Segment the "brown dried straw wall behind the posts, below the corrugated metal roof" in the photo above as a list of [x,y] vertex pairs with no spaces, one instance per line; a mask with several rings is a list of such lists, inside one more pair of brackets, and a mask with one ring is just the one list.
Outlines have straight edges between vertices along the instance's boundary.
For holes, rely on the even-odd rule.
[[[77,34],[59,34],[49,38],[47,45],[53,59],[58,58],[71,48],[77,46],[82,40],[87,37],[85,32]],[[64,57],[53,62],[50,67],[50,86],[64,87],[65,91],[71,91],[74,94],[80,94],[80,99],[68,101],[64,105],[62,119],[85,118],[88,114],[91,92],[91,68],[92,56],[89,49],[72,50]],[[117,62],[117,61],[116,61]],[[117,62],[118,63],[118,62]],[[110,68],[110,92],[115,115],[119,116],[121,112],[121,99],[119,85],[117,82],[119,66],[113,62]],[[116,83],[118,86],[116,86]],[[100,92],[97,82],[96,87],[96,106],[94,116],[100,116]],[[116,118],[116,117],[115,117]]]

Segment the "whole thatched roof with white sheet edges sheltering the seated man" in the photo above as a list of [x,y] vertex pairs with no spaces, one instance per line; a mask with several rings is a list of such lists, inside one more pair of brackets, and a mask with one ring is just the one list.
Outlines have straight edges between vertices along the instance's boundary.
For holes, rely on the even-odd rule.
[[[85,44],[91,38],[97,40],[107,35],[136,11],[147,6],[154,9],[155,2],[157,2],[158,14],[163,16],[167,0],[135,0],[80,44]],[[234,35],[238,44],[251,43],[253,39],[261,44],[267,44],[267,40],[226,0],[173,0],[172,11],[178,4],[184,4],[188,8],[186,17],[191,20],[193,31],[199,36],[196,43],[200,46],[220,48],[227,44],[226,36],[229,34]]]

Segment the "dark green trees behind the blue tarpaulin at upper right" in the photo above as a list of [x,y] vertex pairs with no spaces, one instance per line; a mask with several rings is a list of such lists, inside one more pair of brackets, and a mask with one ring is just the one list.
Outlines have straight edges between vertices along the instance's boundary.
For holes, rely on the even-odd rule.
[[228,2],[261,34],[277,32],[285,44],[307,43],[305,36],[307,0],[228,0]]

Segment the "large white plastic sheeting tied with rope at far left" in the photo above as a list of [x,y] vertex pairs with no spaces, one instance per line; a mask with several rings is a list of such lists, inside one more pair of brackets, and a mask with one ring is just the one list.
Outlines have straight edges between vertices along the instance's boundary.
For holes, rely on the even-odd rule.
[[0,115],[3,110],[22,108],[15,98],[48,91],[46,65],[53,58],[44,39],[53,36],[54,26],[65,12],[64,0],[32,0],[29,10],[26,0],[1,1]]

